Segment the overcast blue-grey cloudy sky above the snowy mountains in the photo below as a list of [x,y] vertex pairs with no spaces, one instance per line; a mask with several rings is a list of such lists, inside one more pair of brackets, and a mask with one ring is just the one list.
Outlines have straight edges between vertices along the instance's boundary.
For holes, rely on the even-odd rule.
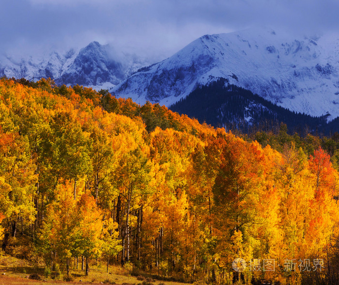
[[336,30],[338,15],[339,0],[5,0],[0,52],[64,50],[96,40],[166,57],[206,33]]

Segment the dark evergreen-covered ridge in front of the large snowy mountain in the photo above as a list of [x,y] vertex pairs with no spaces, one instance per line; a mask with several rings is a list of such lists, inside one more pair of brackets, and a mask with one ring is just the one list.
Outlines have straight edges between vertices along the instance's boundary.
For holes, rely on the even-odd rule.
[[170,106],[170,110],[186,114],[214,127],[238,130],[242,133],[278,131],[280,123],[288,132],[302,136],[308,133],[329,134],[339,130],[339,118],[326,123],[329,114],[313,117],[297,113],[253,94],[244,88],[219,79],[207,86],[200,86],[186,98]]

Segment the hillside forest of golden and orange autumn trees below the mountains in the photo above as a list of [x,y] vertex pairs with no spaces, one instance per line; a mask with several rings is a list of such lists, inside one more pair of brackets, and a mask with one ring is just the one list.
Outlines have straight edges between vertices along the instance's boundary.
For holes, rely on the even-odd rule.
[[199,284],[339,284],[338,149],[338,134],[244,135],[106,90],[0,79],[0,256],[66,277],[102,262]]

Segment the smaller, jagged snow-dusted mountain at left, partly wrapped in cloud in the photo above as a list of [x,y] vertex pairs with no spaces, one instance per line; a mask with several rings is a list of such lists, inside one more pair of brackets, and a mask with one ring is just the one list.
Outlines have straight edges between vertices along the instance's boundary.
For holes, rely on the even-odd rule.
[[140,67],[149,64],[136,55],[119,54],[109,45],[92,42],[66,53],[15,59],[0,58],[0,76],[38,80],[51,78],[58,85],[84,85],[95,89],[112,88]]

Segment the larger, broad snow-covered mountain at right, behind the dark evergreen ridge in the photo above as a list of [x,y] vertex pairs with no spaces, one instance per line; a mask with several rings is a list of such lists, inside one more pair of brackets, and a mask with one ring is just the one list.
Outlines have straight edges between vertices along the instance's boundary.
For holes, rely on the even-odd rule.
[[[292,111],[339,116],[339,37],[246,30],[205,35],[115,86],[116,96],[170,106],[218,78]],[[213,96],[211,94],[211,96]]]

